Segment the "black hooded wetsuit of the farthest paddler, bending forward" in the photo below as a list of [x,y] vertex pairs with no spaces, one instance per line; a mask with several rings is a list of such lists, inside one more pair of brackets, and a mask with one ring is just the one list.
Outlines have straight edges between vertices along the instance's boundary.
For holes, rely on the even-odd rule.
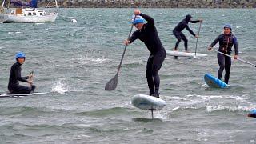
[[182,33],[182,30],[184,30],[186,28],[186,30],[188,30],[190,32],[190,34],[195,36],[194,32],[189,27],[189,22],[190,23],[197,23],[197,22],[200,22],[200,21],[199,20],[198,21],[190,21],[190,18],[192,18],[190,15],[186,15],[186,18],[183,19],[182,22],[179,22],[178,25],[173,30],[173,33],[174,33],[175,37],[178,40],[175,44],[175,47],[174,47],[175,50],[177,50],[178,44],[182,40],[184,41],[185,50],[187,50],[188,40],[186,39],[186,36]]

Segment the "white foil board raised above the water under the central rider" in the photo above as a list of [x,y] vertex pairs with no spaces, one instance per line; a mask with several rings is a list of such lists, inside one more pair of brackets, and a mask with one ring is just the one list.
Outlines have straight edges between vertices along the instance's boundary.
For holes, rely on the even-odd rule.
[[161,110],[166,106],[166,102],[161,98],[155,98],[146,94],[137,94],[131,100],[131,103],[142,110]]

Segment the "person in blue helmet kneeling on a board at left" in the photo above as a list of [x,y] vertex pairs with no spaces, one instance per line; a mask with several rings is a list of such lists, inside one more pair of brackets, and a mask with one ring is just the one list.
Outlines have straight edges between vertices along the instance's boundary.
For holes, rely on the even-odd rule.
[[[25,62],[26,56],[22,52],[18,52],[16,54],[16,63],[14,63],[13,66],[10,68],[10,78],[9,78],[9,84],[8,84],[8,90],[10,91],[9,94],[30,94],[31,92],[34,91],[35,86],[32,85],[32,77],[33,74],[30,74],[27,77],[22,77],[21,76],[21,71],[22,71],[22,64]],[[27,80],[29,79],[30,80]],[[30,83],[30,87],[28,86],[21,86],[19,85],[19,82],[28,82]]]

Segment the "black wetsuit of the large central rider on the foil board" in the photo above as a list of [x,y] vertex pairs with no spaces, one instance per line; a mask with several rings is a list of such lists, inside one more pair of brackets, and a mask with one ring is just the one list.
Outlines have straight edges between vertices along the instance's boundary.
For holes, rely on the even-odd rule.
[[146,79],[150,89],[150,95],[158,93],[160,78],[158,70],[162,66],[162,62],[166,58],[166,50],[162,46],[160,38],[158,37],[158,31],[154,26],[154,19],[146,14],[140,14],[142,18],[145,18],[147,23],[144,24],[142,30],[136,30],[129,38],[130,43],[135,39],[140,39],[145,43],[147,49],[150,51],[150,57],[148,58],[146,65]]

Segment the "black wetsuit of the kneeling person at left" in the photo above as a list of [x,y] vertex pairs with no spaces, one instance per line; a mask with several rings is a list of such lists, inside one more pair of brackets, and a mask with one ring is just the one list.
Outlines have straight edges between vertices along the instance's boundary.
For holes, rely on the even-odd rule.
[[28,82],[26,79],[29,78],[21,76],[21,66],[22,65],[20,63],[16,62],[10,68],[10,78],[8,84],[8,90],[10,91],[9,94],[30,94],[30,92],[33,91],[35,88],[34,85],[32,85],[31,87],[19,85],[18,81]]

